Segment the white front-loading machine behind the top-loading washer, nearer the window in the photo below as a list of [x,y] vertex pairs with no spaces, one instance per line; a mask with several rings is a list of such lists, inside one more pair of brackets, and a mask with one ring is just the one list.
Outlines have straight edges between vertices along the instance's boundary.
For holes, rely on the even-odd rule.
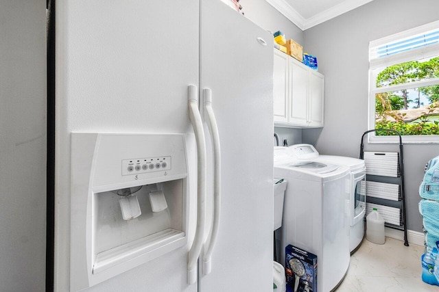
[[289,146],[297,159],[312,161],[327,161],[346,165],[351,170],[351,196],[346,206],[348,207],[348,217],[350,221],[349,248],[351,252],[359,248],[364,238],[364,215],[366,213],[366,196],[361,192],[361,185],[365,187],[366,166],[363,159],[352,157],[319,155],[316,148],[310,144],[296,144]]

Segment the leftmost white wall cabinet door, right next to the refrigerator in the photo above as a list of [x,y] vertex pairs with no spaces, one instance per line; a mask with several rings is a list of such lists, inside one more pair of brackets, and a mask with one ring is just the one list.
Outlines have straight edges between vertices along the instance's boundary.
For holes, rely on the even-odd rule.
[[288,55],[278,49],[274,49],[273,102],[274,124],[286,124],[288,118]]

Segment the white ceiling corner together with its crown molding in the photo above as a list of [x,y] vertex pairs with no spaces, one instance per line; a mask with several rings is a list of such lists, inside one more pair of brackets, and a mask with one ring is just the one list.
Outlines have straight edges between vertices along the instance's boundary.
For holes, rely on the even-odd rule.
[[329,21],[373,0],[265,0],[300,29]]

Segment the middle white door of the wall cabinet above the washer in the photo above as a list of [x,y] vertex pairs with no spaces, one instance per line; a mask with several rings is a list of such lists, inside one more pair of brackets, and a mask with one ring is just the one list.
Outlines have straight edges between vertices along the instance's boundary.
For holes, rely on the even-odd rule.
[[289,60],[290,103],[288,124],[298,127],[308,125],[308,68],[294,59]]

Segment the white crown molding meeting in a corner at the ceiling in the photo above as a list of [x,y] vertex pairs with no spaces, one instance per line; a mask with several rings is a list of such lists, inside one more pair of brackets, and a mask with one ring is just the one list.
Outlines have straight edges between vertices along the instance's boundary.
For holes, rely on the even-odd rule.
[[332,18],[335,18],[341,14],[344,14],[348,11],[351,11],[355,8],[358,8],[361,5],[369,3],[373,0],[345,0],[340,4],[333,6],[333,8],[329,8],[328,10],[324,10],[315,16],[310,18],[303,18],[291,5],[287,3],[285,0],[265,0],[270,5],[272,5],[278,12],[281,12],[283,16],[289,19],[292,23],[294,23],[298,28],[302,29],[302,31],[319,25],[320,23],[324,23],[325,21],[329,21]]

